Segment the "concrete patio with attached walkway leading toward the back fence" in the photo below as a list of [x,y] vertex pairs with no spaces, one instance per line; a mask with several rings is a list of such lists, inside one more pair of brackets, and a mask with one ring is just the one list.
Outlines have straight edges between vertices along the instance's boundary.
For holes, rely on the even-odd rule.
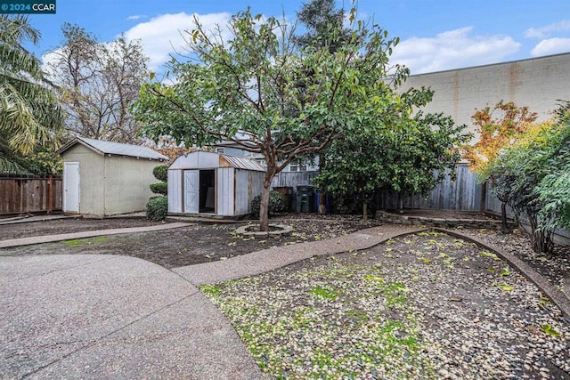
[[174,271],[117,255],[0,257],[0,378],[265,378],[196,286],[419,230],[387,224]]

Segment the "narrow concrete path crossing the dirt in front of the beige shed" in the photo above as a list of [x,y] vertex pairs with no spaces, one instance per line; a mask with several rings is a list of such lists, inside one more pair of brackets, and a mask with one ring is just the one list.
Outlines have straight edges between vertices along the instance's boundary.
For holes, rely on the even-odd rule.
[[96,236],[118,235],[121,233],[147,232],[152,230],[169,230],[173,228],[187,227],[190,225],[191,223],[175,222],[175,223],[167,223],[157,226],[133,227],[133,228],[123,228],[123,229],[114,229],[114,230],[86,230],[83,232],[62,233],[59,235],[46,235],[46,236],[35,236],[30,238],[9,239],[9,240],[1,240],[0,248],[29,246],[32,244],[52,243],[53,241],[62,241],[70,239],[94,238]]

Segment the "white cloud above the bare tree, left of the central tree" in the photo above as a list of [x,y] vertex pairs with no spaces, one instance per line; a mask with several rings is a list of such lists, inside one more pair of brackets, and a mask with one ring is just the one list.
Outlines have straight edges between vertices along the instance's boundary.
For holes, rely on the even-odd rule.
[[140,39],[144,53],[150,58],[150,69],[159,69],[169,60],[170,53],[181,53],[185,46],[184,30],[194,28],[194,16],[206,30],[214,30],[216,25],[225,28],[231,14],[209,13],[188,14],[185,12],[163,14],[150,21],[137,24],[125,32],[127,40]]

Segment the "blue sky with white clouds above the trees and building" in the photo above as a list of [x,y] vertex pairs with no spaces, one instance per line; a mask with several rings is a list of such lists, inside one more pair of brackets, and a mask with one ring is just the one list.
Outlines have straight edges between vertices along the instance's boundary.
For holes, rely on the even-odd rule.
[[[150,67],[160,71],[197,14],[206,26],[224,25],[248,5],[252,12],[294,19],[303,1],[291,0],[57,0],[56,14],[30,15],[42,33],[32,50],[42,57],[61,44],[61,25],[75,23],[110,42],[121,33],[141,39]],[[346,9],[351,1],[337,1]],[[399,36],[391,63],[411,74],[458,69],[570,52],[570,0],[360,0],[359,18]],[[570,69],[570,68],[569,68]]]

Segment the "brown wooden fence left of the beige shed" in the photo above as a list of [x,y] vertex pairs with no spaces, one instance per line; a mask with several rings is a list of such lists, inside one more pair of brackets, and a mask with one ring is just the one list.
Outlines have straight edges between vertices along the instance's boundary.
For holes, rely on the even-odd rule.
[[0,214],[52,213],[62,210],[61,178],[0,177]]

